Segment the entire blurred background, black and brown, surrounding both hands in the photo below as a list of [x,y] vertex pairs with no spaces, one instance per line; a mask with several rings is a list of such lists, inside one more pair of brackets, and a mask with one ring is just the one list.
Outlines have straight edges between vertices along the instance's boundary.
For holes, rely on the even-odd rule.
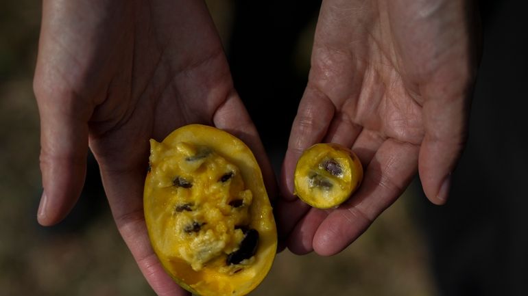
[[[278,172],[309,70],[317,1],[207,1],[235,86]],[[527,4],[481,1],[470,139],[446,206],[414,184],[337,256],[276,258],[252,295],[528,295]],[[121,241],[91,161],[58,226],[36,224],[40,3],[0,3],[0,296],[154,295]]]

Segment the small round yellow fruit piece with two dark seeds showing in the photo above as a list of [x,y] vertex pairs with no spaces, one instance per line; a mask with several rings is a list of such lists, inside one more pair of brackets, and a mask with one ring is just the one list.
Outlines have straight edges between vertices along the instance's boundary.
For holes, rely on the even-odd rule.
[[294,174],[295,194],[315,208],[332,208],[361,185],[363,167],[352,150],[335,143],[304,150]]

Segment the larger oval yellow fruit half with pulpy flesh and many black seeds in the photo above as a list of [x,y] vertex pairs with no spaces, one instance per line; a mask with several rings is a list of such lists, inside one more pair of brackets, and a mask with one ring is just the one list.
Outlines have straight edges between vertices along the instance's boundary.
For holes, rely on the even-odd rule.
[[252,291],[272,267],[277,232],[251,150],[200,124],[150,144],[145,222],[167,273],[197,295]]

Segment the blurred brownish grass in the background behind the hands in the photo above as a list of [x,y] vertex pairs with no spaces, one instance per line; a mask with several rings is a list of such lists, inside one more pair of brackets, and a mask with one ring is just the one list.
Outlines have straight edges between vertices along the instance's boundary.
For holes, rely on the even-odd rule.
[[[208,1],[226,40],[232,10],[219,3]],[[36,224],[41,185],[32,72],[39,22],[35,1],[0,3],[0,296],[154,295],[106,205],[100,213],[88,213],[83,227]],[[307,68],[310,36],[308,28],[300,40],[300,71]],[[407,213],[412,198],[411,193],[400,198],[337,256],[278,254],[252,295],[435,295],[427,250]],[[88,199],[105,203],[94,194],[81,202]]]

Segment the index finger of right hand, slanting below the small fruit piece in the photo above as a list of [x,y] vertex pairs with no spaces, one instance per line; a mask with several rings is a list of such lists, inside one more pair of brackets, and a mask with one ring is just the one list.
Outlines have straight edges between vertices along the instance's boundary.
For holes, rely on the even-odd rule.
[[344,250],[400,196],[416,173],[418,147],[387,139],[365,170],[359,191],[317,229],[313,249],[330,256]]

